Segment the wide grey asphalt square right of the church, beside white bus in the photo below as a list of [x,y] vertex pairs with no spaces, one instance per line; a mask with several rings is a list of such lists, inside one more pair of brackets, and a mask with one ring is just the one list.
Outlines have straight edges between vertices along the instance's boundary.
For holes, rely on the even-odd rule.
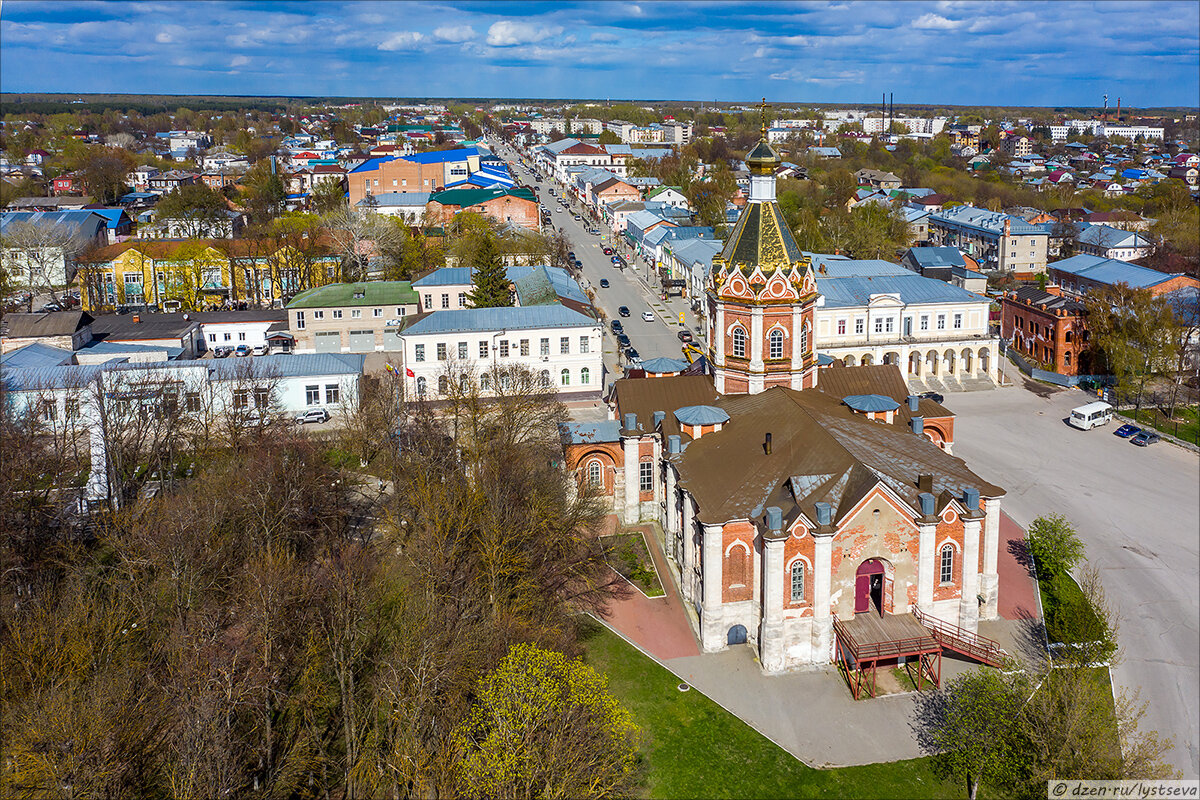
[[1148,703],[1142,729],[1174,736],[1170,760],[1195,778],[1200,457],[1166,443],[1138,447],[1112,435],[1117,421],[1072,428],[1070,409],[1094,397],[1079,390],[1039,397],[1014,379],[1012,389],[947,396],[958,414],[954,455],[1008,491],[1003,507],[1021,525],[1054,512],[1075,524],[1120,616],[1114,682],[1140,690]]

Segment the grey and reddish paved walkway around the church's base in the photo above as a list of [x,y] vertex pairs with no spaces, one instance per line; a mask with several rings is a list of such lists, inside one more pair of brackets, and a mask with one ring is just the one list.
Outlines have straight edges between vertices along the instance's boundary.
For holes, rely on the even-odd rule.
[[[606,528],[614,529],[614,522],[610,518]],[[655,527],[630,530],[646,534],[667,596],[648,599],[634,593],[612,604],[602,621],[626,642],[810,766],[853,766],[922,754],[908,727],[914,693],[854,700],[834,667],[764,675],[749,645],[701,654]],[[1039,616],[1032,577],[1018,559],[1024,540],[1025,531],[1002,516],[1001,619],[979,625],[982,636],[1014,655],[1027,650],[1031,618]],[[942,656],[943,681],[976,668],[974,662],[953,654]]]

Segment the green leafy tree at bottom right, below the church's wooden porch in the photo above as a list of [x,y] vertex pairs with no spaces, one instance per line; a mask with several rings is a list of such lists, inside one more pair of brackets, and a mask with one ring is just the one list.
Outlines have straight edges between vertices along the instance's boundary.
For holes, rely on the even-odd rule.
[[917,699],[913,732],[934,756],[934,769],[966,786],[976,799],[980,783],[1000,790],[1020,787],[1030,770],[1028,742],[1020,727],[1025,702],[1020,673],[968,672]]

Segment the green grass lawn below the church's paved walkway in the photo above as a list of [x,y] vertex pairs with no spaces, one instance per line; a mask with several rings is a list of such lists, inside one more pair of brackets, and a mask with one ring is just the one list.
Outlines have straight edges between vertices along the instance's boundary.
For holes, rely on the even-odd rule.
[[[583,624],[586,661],[642,730],[648,798],[961,798],[929,759],[817,770],[776,747],[594,620]],[[804,720],[804,698],[796,698]],[[806,724],[836,724],[805,720]]]

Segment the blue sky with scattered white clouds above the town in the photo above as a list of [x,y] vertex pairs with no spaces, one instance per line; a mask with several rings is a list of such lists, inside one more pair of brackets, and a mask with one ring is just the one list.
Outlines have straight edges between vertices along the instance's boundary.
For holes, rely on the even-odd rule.
[[1195,106],[1200,2],[0,6],[0,90]]

